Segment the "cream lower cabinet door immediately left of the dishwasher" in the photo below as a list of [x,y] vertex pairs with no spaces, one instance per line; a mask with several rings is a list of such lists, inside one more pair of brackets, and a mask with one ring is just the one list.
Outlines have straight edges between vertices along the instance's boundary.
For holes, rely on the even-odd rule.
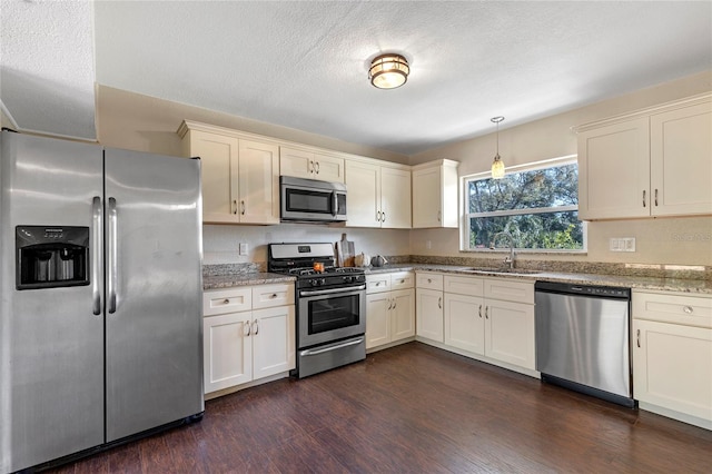
[[485,355],[534,369],[534,305],[485,299]]

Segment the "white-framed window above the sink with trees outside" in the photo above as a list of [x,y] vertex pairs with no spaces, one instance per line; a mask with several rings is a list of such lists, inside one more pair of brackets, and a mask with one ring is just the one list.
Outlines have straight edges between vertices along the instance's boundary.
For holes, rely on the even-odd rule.
[[501,231],[512,235],[518,249],[585,249],[575,157],[510,168],[503,179],[488,172],[466,177],[464,190],[466,250],[490,248]]

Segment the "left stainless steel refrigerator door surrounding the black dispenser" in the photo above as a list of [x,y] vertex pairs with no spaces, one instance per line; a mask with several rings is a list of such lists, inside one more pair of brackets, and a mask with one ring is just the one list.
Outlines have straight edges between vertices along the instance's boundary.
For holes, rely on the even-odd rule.
[[[12,472],[103,442],[103,317],[92,307],[102,151],[9,131],[0,141],[0,472]],[[90,285],[16,289],[18,226],[89,228]]]

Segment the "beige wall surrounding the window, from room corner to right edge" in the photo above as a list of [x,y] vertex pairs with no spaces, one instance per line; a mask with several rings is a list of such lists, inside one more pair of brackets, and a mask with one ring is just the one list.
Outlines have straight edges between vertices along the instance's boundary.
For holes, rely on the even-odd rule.
[[[507,166],[574,155],[576,136],[571,130],[572,127],[710,90],[712,71],[706,71],[522,126],[504,128],[500,131],[500,155]],[[483,120],[488,118],[484,117]],[[411,164],[417,165],[442,158],[453,159],[461,162],[458,175],[466,176],[488,170],[494,150],[495,135],[490,134],[415,155],[411,157]],[[610,251],[611,237],[635,237],[636,251]],[[426,246],[428,240],[429,249]],[[411,233],[411,251],[416,255],[486,255],[486,251],[461,253],[458,248],[457,229]],[[589,223],[587,255],[543,257],[540,254],[527,257],[526,254],[521,254],[520,258],[712,265],[712,217]]]

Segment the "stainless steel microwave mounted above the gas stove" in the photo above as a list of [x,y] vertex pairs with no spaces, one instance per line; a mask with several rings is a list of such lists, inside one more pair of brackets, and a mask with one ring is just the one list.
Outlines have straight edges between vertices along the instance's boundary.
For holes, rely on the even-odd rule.
[[346,220],[346,185],[343,182],[281,176],[279,198],[283,221]]

